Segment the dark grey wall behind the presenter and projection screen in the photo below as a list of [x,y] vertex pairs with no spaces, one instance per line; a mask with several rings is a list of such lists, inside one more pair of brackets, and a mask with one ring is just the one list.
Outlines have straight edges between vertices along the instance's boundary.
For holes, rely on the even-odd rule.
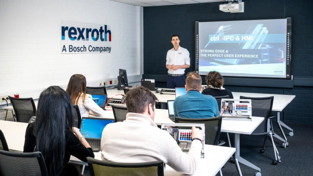
[[219,4],[223,2],[144,7],[143,77],[156,79],[156,87],[166,87],[165,58],[166,52],[173,47],[170,43],[173,34],[179,34],[180,45],[190,52],[191,66],[186,72],[194,70],[196,21],[291,17],[294,80],[225,78],[225,87],[231,91],[296,95],[282,113],[282,118],[289,122],[313,124],[313,0],[244,1],[244,13],[219,11]]

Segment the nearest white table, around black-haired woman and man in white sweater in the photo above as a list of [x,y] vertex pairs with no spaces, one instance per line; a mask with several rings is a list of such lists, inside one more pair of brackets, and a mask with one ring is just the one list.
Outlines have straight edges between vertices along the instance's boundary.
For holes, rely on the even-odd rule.
[[[27,125],[27,123],[0,120],[0,130],[3,132],[11,152],[23,151]],[[200,160],[197,172],[194,176],[203,176],[204,174],[207,176],[215,176],[234,153],[234,148],[205,145],[205,157]],[[100,152],[95,152],[94,155],[95,159],[101,160]],[[82,162],[74,156],[71,156],[69,162],[88,165],[86,162]],[[183,175],[169,166],[166,166],[164,174],[165,176]]]

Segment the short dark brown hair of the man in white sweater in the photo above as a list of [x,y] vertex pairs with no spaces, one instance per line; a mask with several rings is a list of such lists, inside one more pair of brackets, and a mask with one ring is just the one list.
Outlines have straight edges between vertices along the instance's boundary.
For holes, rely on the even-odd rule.
[[156,104],[156,95],[153,94],[148,88],[137,86],[130,89],[126,93],[126,106],[128,112],[143,113],[149,104],[154,107]]

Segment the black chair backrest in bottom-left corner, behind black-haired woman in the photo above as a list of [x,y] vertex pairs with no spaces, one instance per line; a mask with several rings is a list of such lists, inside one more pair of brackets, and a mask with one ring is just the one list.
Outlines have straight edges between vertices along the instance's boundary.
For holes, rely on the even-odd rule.
[[48,176],[43,154],[0,150],[0,176]]

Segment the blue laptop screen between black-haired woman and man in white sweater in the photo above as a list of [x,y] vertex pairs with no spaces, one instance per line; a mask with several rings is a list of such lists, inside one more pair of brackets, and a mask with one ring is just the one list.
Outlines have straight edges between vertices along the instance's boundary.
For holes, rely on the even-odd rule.
[[83,117],[80,132],[87,139],[101,139],[103,129],[114,119]]

